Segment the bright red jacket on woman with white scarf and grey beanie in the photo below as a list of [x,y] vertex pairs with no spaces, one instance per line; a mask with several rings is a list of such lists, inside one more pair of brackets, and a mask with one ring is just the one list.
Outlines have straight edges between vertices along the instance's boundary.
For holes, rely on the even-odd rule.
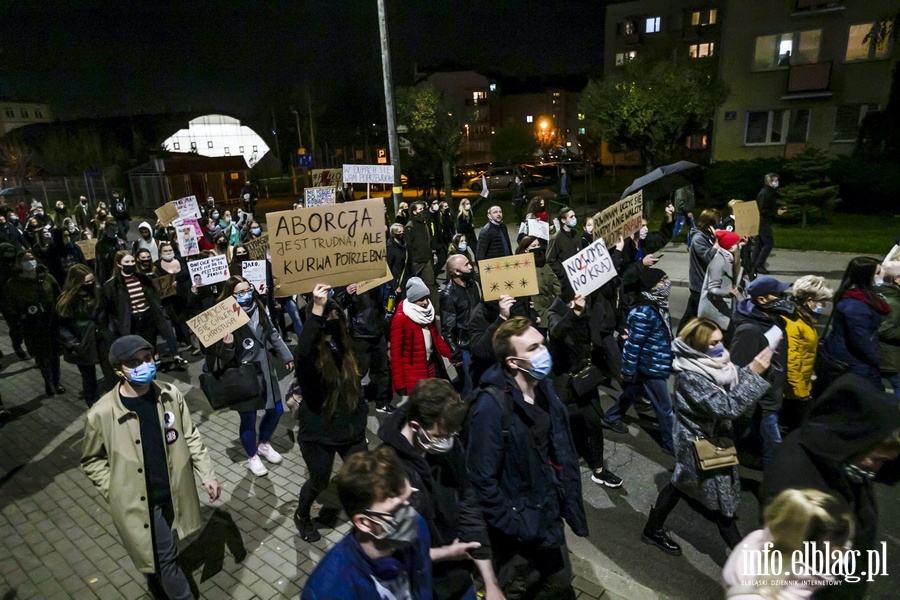
[[[391,373],[394,390],[406,390],[408,394],[420,379],[428,379],[428,364],[422,326],[404,314],[404,302],[406,300],[400,301],[391,321]],[[453,353],[441,337],[437,320],[432,321],[428,329],[431,331],[432,351],[449,359]]]

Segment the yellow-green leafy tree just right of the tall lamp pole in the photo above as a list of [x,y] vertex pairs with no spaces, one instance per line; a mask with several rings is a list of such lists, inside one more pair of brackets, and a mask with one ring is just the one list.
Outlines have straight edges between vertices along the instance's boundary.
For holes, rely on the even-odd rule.
[[440,164],[449,199],[453,192],[450,167],[462,147],[460,119],[465,115],[454,115],[443,94],[431,86],[397,88],[394,102],[397,123],[407,127],[413,150],[424,155],[421,160]]

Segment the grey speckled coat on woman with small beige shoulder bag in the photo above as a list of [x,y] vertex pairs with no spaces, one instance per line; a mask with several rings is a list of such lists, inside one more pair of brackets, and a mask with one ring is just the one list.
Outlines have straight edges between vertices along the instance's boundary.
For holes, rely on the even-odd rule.
[[675,376],[672,485],[705,507],[734,516],[741,501],[737,467],[701,470],[692,442],[697,437],[731,438],[731,421],[752,410],[768,389],[766,380],[749,366],[738,370],[738,383],[727,392],[705,375],[679,372]]

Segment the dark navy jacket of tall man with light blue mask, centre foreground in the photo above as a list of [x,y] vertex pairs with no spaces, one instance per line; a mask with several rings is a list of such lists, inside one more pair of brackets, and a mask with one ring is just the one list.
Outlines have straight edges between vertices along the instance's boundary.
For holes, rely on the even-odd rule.
[[[556,548],[565,543],[563,518],[576,535],[588,534],[581,498],[578,454],[568,412],[549,379],[540,382],[537,402],[550,417],[549,455],[541,458],[534,440],[534,420],[515,380],[500,365],[484,374],[482,386],[500,389],[506,407],[482,391],[467,421],[466,467],[489,528],[518,542]],[[506,413],[508,418],[503,415]],[[503,434],[504,420],[508,433]]]

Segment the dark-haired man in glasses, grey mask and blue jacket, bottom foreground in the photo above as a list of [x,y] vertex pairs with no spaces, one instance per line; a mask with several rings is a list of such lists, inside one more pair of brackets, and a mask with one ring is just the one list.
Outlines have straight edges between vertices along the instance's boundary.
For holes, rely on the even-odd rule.
[[413,489],[394,451],[350,456],[334,483],[352,526],[316,565],[300,600],[434,597],[428,526],[410,506]]

